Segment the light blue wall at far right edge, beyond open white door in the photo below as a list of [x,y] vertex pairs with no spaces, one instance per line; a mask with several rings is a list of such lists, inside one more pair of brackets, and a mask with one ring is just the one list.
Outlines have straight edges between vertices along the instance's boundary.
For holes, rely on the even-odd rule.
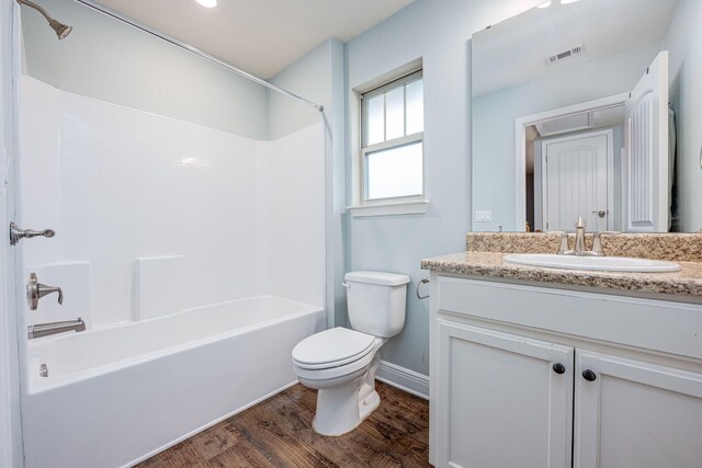
[[680,0],[665,38],[678,125],[678,230],[702,229],[702,2]]

